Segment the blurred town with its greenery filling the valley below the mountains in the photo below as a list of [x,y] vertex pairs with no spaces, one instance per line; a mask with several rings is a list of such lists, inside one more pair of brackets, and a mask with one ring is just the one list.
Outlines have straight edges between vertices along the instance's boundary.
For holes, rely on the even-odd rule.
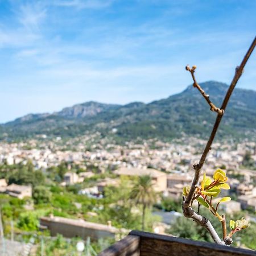
[[[24,248],[36,253],[42,250],[42,241],[59,239],[65,250],[72,251],[78,238],[89,237],[88,246],[98,253],[131,229],[141,228],[141,205],[131,203],[129,193],[144,175],[151,177],[158,193],[157,201],[146,210],[144,229],[179,236],[175,225],[184,218],[183,188],[192,182],[193,164],[199,162],[205,143],[198,137],[183,137],[172,141],[138,138],[118,144],[100,133],[69,139],[42,134],[1,142],[1,225],[6,247],[10,241],[27,239]],[[245,215],[253,224],[256,143],[216,141],[203,172],[212,176],[218,168],[226,172],[231,188],[223,196],[232,198],[221,210],[228,216]],[[31,236],[35,237],[32,242]],[[255,245],[252,239],[246,244],[247,238],[242,237],[237,245],[250,248]]]

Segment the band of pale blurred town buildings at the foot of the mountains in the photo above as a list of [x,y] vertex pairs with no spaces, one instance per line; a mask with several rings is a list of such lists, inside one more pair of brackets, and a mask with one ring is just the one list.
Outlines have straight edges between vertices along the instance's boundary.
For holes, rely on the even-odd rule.
[[[36,141],[21,143],[1,143],[0,144],[0,163],[6,164],[26,164],[30,160],[35,168],[46,169],[57,166],[61,162],[75,163],[85,170],[80,174],[68,172],[64,176],[62,185],[82,183],[84,179],[92,177],[94,174],[89,170],[95,167],[99,172],[112,170],[117,175],[140,175],[146,174],[151,170],[151,175],[160,185],[160,191],[166,195],[179,197],[182,188],[191,183],[193,176],[193,164],[198,162],[205,141],[195,138],[188,138],[187,143],[177,141],[176,143],[163,143],[156,140],[145,141],[143,144],[127,142],[125,146],[119,146],[106,142],[92,144],[91,150],[86,150],[86,139],[76,139],[76,150],[67,150],[71,142],[66,142],[61,147],[59,142],[40,143]],[[58,139],[57,141],[60,141]],[[28,147],[29,146],[29,147]],[[210,150],[204,170],[211,175],[217,167],[225,167],[227,170],[238,171],[246,151],[251,152],[251,158],[256,163],[256,144],[254,142],[243,142],[237,145],[233,143],[214,143]],[[89,167],[89,168],[87,168]],[[88,169],[88,170],[86,170]],[[117,171],[115,171],[117,170]],[[154,171],[152,171],[154,170]],[[158,170],[158,171],[156,171]],[[156,175],[156,172],[158,175]],[[255,178],[253,171],[239,170],[242,175],[249,175]],[[159,177],[161,178],[159,178]],[[162,179],[160,183],[159,179]],[[163,181],[164,179],[164,181]],[[114,181],[99,181],[108,185]],[[242,208],[256,205],[256,196],[253,192],[253,185],[245,184],[249,193],[240,192],[239,181],[229,180],[232,187],[237,188],[238,199],[241,201]],[[240,184],[243,185],[243,184]],[[252,186],[252,188],[251,188]],[[100,188],[100,186],[98,186]],[[98,188],[97,187],[97,188]],[[101,184],[101,188],[104,185]],[[95,190],[95,189],[94,189]],[[87,194],[88,191],[81,193]],[[256,193],[256,192],[255,192]]]

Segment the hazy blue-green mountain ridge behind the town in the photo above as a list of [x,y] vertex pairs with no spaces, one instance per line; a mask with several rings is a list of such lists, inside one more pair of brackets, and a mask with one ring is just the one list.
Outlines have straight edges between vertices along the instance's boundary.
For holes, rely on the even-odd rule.
[[[214,104],[220,106],[228,85],[209,81],[201,86]],[[171,138],[184,133],[204,137],[209,134],[215,117],[216,113],[210,112],[199,91],[190,85],[179,94],[150,104],[112,105],[90,101],[53,114],[30,114],[2,125],[0,132],[7,133],[9,138],[36,134],[75,137],[96,130],[104,135],[113,134],[115,128],[115,135],[123,138]],[[240,136],[255,130],[256,92],[236,88],[218,134]]]

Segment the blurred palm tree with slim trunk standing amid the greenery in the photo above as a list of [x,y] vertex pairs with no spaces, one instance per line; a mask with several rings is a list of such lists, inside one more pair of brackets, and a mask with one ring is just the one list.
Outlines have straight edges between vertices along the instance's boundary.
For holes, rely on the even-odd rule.
[[151,177],[148,175],[139,176],[131,190],[130,199],[135,204],[142,204],[142,230],[145,227],[145,210],[156,202],[156,196]]

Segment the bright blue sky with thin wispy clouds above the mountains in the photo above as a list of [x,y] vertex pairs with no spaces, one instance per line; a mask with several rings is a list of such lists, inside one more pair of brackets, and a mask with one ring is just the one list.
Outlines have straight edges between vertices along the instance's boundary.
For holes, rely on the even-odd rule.
[[[256,1],[0,0],[0,122],[94,100],[150,102],[229,83],[255,36]],[[240,88],[256,90],[256,54]]]

